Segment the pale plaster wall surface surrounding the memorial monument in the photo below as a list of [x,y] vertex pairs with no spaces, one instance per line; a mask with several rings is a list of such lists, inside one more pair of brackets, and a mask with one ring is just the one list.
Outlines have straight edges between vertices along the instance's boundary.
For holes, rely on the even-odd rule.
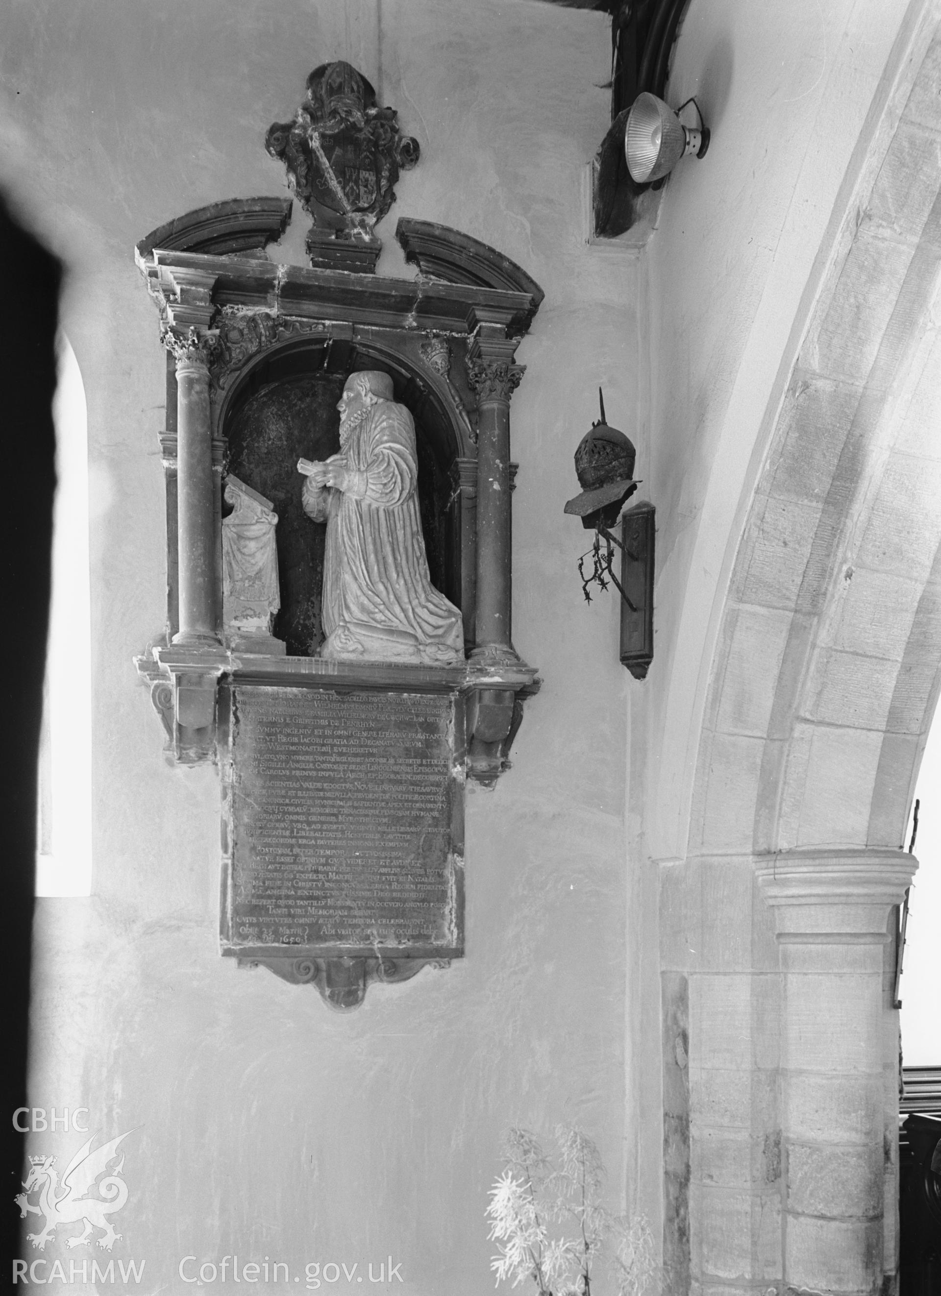
[[[613,415],[636,375],[635,266],[592,257],[581,228],[607,21],[530,0],[13,0],[0,57],[0,174],[66,262],[92,509],[93,894],[39,902],[31,1100],[135,1130],[115,1256],[146,1260],[141,1291],[181,1290],[183,1256],[237,1252],[293,1273],[391,1253],[403,1291],[477,1292],[507,1126],[583,1126],[614,1208],[633,1157],[626,686],[616,604],[586,614],[583,533],[561,512],[598,384]],[[378,231],[381,272],[411,273],[393,229],[412,214],[491,242],[546,289],[512,411],[515,638],[543,691],[512,771],[468,797],[467,958],[372,988],[350,1016],[219,958],[218,778],[167,767],[131,662],[162,629],[165,584],[163,355],[134,242],[213,200],[284,192],[264,131],[334,57],[421,144]],[[297,211],[271,255],[299,259],[305,227]],[[31,1151],[62,1160],[75,1142],[36,1135]]]

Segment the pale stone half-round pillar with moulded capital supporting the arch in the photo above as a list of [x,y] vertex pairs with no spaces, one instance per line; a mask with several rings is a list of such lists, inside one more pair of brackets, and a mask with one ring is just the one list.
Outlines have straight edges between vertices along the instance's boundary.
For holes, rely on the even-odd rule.
[[[788,1290],[883,1290],[887,925],[918,867],[901,850],[789,850],[757,867],[783,980],[783,1249]],[[889,1266],[892,1267],[892,1266]]]

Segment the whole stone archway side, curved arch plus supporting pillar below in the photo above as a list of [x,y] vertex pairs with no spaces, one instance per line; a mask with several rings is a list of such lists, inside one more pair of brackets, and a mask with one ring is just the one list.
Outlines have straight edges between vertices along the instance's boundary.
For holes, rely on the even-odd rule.
[[[900,846],[941,686],[931,22],[770,411],[686,859],[662,875],[665,1251],[679,1290],[876,1291],[897,1269],[887,919],[915,867]],[[687,1030],[688,1068],[686,1045],[671,1051]]]

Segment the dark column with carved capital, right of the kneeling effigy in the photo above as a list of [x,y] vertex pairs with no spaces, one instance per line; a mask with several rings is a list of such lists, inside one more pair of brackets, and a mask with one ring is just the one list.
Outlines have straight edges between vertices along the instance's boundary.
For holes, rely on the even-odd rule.
[[513,364],[516,340],[481,329],[468,347],[477,397],[477,617],[472,660],[518,661],[512,644],[512,531],[509,398],[525,367]]

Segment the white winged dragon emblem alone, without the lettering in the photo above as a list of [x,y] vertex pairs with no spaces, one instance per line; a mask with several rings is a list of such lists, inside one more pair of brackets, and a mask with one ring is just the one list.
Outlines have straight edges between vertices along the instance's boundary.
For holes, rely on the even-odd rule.
[[[121,1160],[118,1160],[118,1144],[130,1133],[132,1131],[127,1130],[124,1134],[118,1134],[117,1138],[95,1148],[95,1151],[92,1151],[92,1143],[97,1135],[92,1134],[84,1147],[78,1150],[66,1166],[61,1183],[58,1172],[53,1169],[56,1163],[54,1156],[30,1157],[30,1173],[23,1181],[25,1191],[18,1192],[13,1200],[19,1207],[22,1220],[27,1214],[38,1214],[43,1216],[44,1225],[40,1232],[27,1232],[27,1242],[44,1251],[47,1242],[54,1235],[60,1225],[82,1221],[84,1230],[76,1238],[67,1238],[67,1247],[88,1245],[92,1230],[101,1229],[104,1230],[104,1236],[96,1238],[96,1242],[105,1251],[111,1249],[114,1243],[121,1238],[121,1234],[114,1231],[114,1225],[108,1217],[121,1210],[127,1201],[127,1185],[121,1178],[121,1172],[124,1168],[124,1153],[122,1152]],[[118,1160],[118,1164],[109,1172],[108,1168],[114,1160]],[[87,1196],[89,1188],[106,1172],[106,1178],[101,1179],[97,1185],[101,1196]],[[38,1205],[34,1205],[29,1200],[32,1192],[39,1194]]]

